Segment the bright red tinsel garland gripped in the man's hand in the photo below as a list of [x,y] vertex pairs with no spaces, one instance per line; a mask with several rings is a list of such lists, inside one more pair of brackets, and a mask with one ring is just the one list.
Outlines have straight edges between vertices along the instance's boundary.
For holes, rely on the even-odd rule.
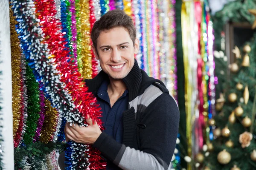
[[[52,65],[55,65],[61,75],[61,82],[66,85],[66,90],[73,97],[74,104],[81,115],[86,118],[87,114],[96,121],[100,128],[102,122],[99,119],[101,108],[96,104],[96,98],[88,91],[81,74],[79,73],[75,60],[69,57],[70,51],[66,50],[63,34],[61,33],[61,22],[55,18],[56,9],[54,0],[35,0],[35,8],[38,19],[41,21],[45,41],[48,44],[50,54],[54,58]],[[95,20],[95,19],[94,19]],[[94,59],[93,59],[94,60]],[[84,123],[85,119],[84,119]],[[91,156],[91,169],[99,170],[105,167],[98,150],[90,149],[87,154]]]

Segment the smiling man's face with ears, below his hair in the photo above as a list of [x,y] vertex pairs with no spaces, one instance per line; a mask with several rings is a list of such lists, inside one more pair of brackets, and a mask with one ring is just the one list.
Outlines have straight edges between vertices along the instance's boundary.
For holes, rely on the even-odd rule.
[[134,66],[134,54],[139,48],[138,39],[133,42],[125,28],[118,27],[102,31],[97,39],[97,51],[93,47],[100,67],[113,79],[125,78]]

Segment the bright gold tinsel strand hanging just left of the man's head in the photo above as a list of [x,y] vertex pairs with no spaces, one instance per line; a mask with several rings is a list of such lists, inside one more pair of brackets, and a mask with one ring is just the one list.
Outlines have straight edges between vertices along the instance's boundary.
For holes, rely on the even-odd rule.
[[90,44],[90,8],[89,0],[81,0],[77,24],[77,62],[84,79],[92,78],[92,55]]

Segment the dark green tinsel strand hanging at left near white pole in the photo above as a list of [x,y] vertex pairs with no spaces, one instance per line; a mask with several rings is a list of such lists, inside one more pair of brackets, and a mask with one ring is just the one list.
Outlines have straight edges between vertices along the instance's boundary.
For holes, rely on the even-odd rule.
[[40,99],[38,82],[36,82],[32,69],[28,65],[26,65],[26,87],[28,96],[28,117],[26,122],[26,132],[23,136],[23,140],[24,144],[30,144],[33,142],[38,119],[40,117]]

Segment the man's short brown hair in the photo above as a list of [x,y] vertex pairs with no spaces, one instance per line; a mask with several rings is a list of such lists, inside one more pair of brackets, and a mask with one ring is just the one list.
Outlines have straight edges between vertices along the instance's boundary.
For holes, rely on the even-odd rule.
[[134,27],[133,20],[124,11],[115,9],[108,11],[104,14],[98,21],[93,25],[91,32],[91,39],[93,41],[93,46],[97,49],[97,38],[102,31],[108,31],[112,28],[123,27],[130,34],[131,40],[135,42],[136,39],[136,29]]

